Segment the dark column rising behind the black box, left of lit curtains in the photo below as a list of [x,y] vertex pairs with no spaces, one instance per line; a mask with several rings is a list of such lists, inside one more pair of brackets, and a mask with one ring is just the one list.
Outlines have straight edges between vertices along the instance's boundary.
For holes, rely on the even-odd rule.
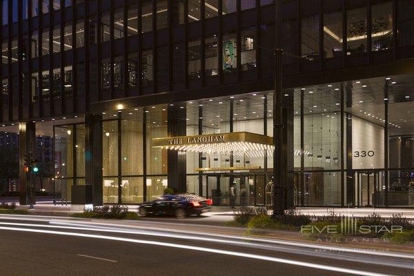
[[102,187],[102,115],[85,115],[85,180],[92,185],[92,203],[103,205]]

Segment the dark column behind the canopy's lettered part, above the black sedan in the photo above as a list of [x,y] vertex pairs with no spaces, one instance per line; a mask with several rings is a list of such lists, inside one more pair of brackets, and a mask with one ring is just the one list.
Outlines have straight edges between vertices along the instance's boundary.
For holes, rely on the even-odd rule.
[[[168,137],[186,135],[186,108],[168,106]],[[186,152],[168,150],[168,187],[175,193],[185,193]]]

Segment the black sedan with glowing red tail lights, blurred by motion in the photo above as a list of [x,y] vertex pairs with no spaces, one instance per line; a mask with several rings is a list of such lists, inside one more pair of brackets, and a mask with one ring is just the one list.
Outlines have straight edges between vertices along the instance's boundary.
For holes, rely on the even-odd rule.
[[163,195],[153,201],[139,204],[138,213],[146,215],[175,215],[183,219],[188,215],[201,215],[210,209],[211,199],[204,199],[197,195]]

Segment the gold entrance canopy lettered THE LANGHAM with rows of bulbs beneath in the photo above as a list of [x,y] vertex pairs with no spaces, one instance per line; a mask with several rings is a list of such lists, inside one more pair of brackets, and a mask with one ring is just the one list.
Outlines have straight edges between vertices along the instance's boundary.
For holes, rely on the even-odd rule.
[[265,151],[273,152],[273,137],[251,132],[215,133],[195,136],[178,136],[152,139],[154,148],[185,152],[206,152],[259,157]]

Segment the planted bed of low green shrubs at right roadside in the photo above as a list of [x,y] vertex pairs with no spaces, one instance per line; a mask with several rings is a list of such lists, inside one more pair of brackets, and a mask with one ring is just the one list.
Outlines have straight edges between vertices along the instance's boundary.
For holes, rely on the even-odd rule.
[[391,218],[373,213],[366,217],[346,217],[334,212],[328,215],[303,215],[288,210],[277,219],[265,208],[243,207],[234,213],[225,226],[246,228],[246,235],[266,235],[274,230],[287,230],[314,241],[346,242],[349,240],[381,239],[382,242],[405,244],[414,242],[414,224],[401,214]]

